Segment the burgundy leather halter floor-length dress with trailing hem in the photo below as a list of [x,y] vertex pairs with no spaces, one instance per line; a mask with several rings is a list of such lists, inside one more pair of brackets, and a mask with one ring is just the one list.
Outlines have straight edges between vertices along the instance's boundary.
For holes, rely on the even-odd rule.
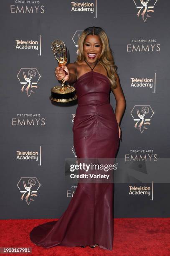
[[[109,103],[110,81],[91,71],[74,84],[78,107],[74,117],[74,148],[77,158],[115,158],[119,129]],[[78,183],[66,211],[58,221],[36,226],[30,240],[37,246],[84,246],[113,244],[113,183]]]

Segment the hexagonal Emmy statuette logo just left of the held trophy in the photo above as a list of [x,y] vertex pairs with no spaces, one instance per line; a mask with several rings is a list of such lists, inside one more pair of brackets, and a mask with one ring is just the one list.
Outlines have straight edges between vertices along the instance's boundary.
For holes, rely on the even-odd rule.
[[35,88],[38,88],[37,84],[41,75],[36,68],[21,68],[17,77],[22,85],[21,91],[26,92],[30,97],[31,93],[35,92]]

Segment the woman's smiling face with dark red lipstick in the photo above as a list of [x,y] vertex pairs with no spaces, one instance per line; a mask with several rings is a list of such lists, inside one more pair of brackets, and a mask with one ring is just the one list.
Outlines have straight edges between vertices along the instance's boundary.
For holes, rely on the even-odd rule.
[[94,63],[101,54],[101,40],[97,35],[88,35],[84,40],[83,50],[86,61]]

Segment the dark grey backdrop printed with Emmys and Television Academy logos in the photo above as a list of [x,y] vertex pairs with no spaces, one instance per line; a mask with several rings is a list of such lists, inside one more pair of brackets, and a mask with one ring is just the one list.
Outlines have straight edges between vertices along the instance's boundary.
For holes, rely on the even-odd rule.
[[[169,157],[169,10],[168,0],[0,1],[1,219],[60,218],[74,195],[65,159],[76,159],[77,102],[51,103],[59,84],[51,43],[64,41],[74,62],[89,26],[107,33],[127,102],[117,158]],[[110,103],[115,110],[112,92]],[[168,182],[145,183],[145,175],[116,183],[114,217],[169,217],[169,193]]]

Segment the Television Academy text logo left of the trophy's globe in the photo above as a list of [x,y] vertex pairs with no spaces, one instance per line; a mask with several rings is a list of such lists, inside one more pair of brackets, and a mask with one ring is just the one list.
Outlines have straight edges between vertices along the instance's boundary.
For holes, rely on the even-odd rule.
[[39,56],[41,56],[41,35],[39,35],[39,42],[34,40],[22,40],[22,39],[15,39],[15,49],[18,50],[39,50]]

